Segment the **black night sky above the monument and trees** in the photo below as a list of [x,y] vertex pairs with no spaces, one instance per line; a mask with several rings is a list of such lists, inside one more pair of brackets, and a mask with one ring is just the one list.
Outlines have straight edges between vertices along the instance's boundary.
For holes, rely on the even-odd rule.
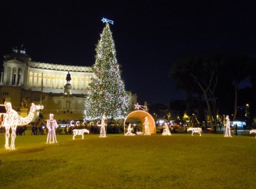
[[0,55],[24,44],[35,62],[92,66],[95,45],[111,25],[126,90],[139,102],[182,99],[168,78],[173,62],[207,52],[256,58],[255,1],[0,2]]

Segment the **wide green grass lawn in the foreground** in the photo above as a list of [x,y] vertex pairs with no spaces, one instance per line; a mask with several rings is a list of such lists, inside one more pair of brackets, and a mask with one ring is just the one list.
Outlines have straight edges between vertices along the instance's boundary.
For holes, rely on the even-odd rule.
[[0,134],[0,188],[255,188],[255,135]]

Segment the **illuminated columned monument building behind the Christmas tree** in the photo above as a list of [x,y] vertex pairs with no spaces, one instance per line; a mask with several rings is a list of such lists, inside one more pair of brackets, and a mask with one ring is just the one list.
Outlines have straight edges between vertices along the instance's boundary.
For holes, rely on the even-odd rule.
[[[46,117],[54,113],[58,119],[83,119],[86,88],[94,73],[90,66],[69,66],[34,62],[25,50],[13,50],[4,55],[0,75],[0,104],[11,102],[19,111],[22,99],[43,104]],[[67,73],[71,74],[72,93],[65,94]],[[137,103],[137,95],[128,92],[130,109]]]

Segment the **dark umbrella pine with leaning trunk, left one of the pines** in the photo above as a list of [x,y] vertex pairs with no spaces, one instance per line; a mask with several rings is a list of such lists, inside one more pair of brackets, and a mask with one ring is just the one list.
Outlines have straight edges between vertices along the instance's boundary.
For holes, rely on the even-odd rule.
[[211,126],[217,116],[215,91],[222,64],[220,55],[185,57],[175,62],[169,73],[170,78],[176,78],[179,87],[187,93],[203,94]]

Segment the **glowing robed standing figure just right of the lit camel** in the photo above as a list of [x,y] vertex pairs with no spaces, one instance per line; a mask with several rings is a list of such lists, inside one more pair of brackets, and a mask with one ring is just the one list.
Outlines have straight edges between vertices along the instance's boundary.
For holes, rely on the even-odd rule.
[[57,143],[55,129],[58,128],[58,123],[53,120],[53,113],[50,113],[50,118],[47,120],[46,127],[48,129],[48,136],[46,143]]

